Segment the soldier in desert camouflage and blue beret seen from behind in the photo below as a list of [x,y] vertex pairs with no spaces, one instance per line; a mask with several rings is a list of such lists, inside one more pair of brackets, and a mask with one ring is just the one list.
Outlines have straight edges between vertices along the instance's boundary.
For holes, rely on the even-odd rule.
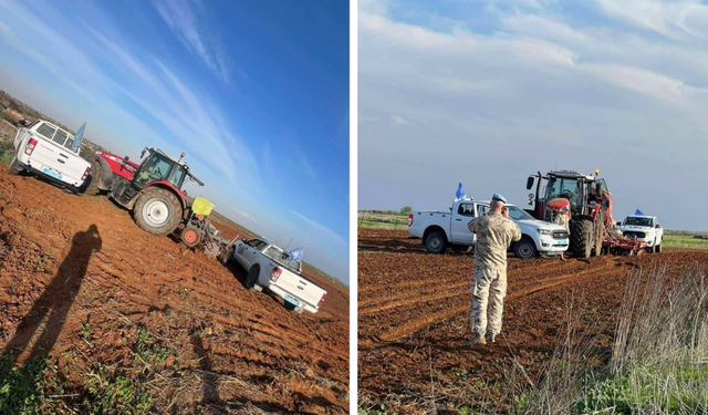
[[501,314],[507,294],[507,250],[511,242],[521,239],[519,226],[509,220],[506,203],[503,196],[494,194],[489,214],[470,220],[467,225],[471,232],[477,234],[470,288],[471,344],[487,344],[487,341],[493,343],[501,332]]

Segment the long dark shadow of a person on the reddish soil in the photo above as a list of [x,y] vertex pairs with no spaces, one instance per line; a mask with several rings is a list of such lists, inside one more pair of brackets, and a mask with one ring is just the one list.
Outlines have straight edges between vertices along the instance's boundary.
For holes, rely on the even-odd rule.
[[2,354],[14,353],[15,360],[23,354],[34,333],[42,326],[46,314],[49,318],[44,330],[28,354],[28,359],[41,351],[49,353],[52,350],[66,321],[69,310],[79,294],[81,282],[88,268],[88,260],[93,252],[101,250],[101,236],[95,225],[91,225],[86,231],[74,235],[71,250],[59,266],[56,276],[34,301],[32,310],[22,318],[14,336],[6,344]]

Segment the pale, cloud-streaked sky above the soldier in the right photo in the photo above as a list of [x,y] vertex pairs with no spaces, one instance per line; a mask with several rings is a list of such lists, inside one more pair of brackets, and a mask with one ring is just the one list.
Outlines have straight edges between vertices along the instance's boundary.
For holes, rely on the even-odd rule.
[[[538,170],[601,170],[615,219],[706,230],[708,6],[361,0],[358,207],[525,206]],[[415,195],[415,196],[414,196]]]

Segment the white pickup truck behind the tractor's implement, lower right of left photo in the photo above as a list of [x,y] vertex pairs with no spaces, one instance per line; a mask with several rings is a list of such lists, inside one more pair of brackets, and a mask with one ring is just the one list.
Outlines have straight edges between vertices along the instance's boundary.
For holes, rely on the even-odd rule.
[[327,298],[326,291],[301,274],[302,262],[290,261],[284,249],[263,239],[242,239],[233,246],[229,259],[248,270],[246,288],[268,289],[285,300],[289,310],[316,313]]

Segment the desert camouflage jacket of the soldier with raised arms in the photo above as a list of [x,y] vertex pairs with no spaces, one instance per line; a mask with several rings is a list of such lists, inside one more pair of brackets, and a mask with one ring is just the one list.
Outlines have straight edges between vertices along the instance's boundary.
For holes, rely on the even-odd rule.
[[521,239],[521,229],[501,214],[489,214],[467,224],[470,232],[477,234],[475,268],[506,269],[507,249]]

